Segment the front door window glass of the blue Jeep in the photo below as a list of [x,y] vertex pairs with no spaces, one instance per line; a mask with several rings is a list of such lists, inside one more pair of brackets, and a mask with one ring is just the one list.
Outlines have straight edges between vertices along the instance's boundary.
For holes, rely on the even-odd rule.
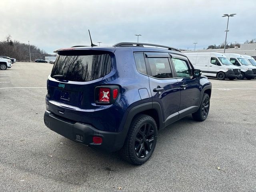
[[177,77],[189,77],[192,76],[190,69],[188,68],[188,62],[178,58],[172,58],[174,68],[177,74]]

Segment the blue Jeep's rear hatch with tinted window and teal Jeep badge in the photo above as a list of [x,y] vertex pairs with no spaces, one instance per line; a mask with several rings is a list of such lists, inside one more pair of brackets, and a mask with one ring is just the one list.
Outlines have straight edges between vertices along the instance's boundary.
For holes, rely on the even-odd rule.
[[111,72],[114,54],[92,48],[58,54],[48,77],[48,110],[70,118],[71,112],[82,115],[100,107],[95,104],[94,89]]

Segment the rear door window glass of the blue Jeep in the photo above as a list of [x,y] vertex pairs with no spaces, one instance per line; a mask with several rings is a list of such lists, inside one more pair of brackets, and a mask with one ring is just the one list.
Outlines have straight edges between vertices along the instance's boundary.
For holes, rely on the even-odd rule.
[[172,78],[172,70],[168,58],[148,58],[152,76],[155,78]]

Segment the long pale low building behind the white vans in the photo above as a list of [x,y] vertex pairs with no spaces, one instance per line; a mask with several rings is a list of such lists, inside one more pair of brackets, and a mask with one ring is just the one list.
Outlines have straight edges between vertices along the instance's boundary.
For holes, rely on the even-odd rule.
[[[194,50],[189,51],[182,51],[183,53],[191,53]],[[202,49],[196,50],[196,52],[217,52],[217,53],[224,53],[224,49]],[[248,44],[241,44],[240,48],[229,48],[226,49],[226,53],[236,53],[241,55],[249,55],[253,58],[256,58],[256,43],[248,43]]]

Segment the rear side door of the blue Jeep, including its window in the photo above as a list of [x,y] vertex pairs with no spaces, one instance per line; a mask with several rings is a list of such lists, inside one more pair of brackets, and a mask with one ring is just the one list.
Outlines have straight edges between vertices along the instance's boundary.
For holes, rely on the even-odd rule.
[[163,121],[168,125],[178,120],[180,107],[180,86],[174,78],[170,56],[168,53],[146,52],[145,58],[152,102],[160,104]]

